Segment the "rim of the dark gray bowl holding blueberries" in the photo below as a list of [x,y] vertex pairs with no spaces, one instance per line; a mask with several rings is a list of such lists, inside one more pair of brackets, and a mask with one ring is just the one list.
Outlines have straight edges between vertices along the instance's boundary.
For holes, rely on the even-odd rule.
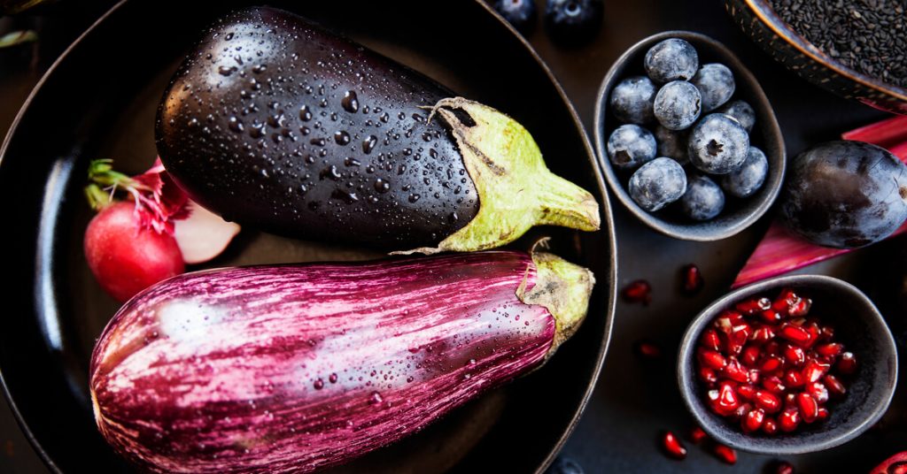
[[[765,116],[760,116],[759,121],[762,123],[761,127],[766,128],[763,130],[763,134],[767,135],[772,141],[777,144],[778,150],[780,152],[777,156],[769,157],[770,165],[776,170],[773,172],[769,170],[769,175],[766,177],[766,183],[770,181],[774,175],[776,175],[775,186],[771,189],[765,189],[765,195],[762,197],[761,202],[758,203],[756,208],[749,215],[738,218],[736,221],[729,223],[724,227],[711,227],[708,232],[703,232],[700,230],[698,225],[707,223],[708,221],[696,223],[691,222],[689,224],[674,224],[666,221],[665,219],[659,218],[653,214],[650,214],[648,211],[640,208],[639,205],[629,197],[627,189],[620,184],[620,180],[615,173],[614,168],[611,166],[610,160],[608,159],[608,152],[605,148],[605,143],[607,137],[604,132],[604,125],[607,118],[607,109],[608,109],[608,96],[610,92],[610,84],[615,81],[616,76],[618,75],[618,70],[621,65],[629,61],[630,56],[633,56],[639,53],[639,50],[644,48],[648,44],[654,44],[660,40],[668,38],[681,38],[685,40],[692,39],[696,42],[701,42],[709,45],[710,47],[716,48],[719,51],[727,53],[732,59],[736,60],[736,63],[739,63],[738,70],[735,71],[735,74],[741,75],[746,78],[747,82],[753,82],[756,84],[754,88],[753,95],[756,101],[766,104],[767,113]],[[709,112],[714,113],[714,112]],[[781,133],[781,127],[778,124],[777,117],[775,116],[775,110],[771,105],[771,102],[768,101],[766,92],[763,91],[762,86],[759,84],[759,81],[756,79],[756,76],[749,71],[749,68],[746,67],[736,54],[731,51],[727,46],[718,42],[706,34],[685,31],[685,30],[669,30],[661,32],[658,34],[649,35],[635,44],[629,46],[624,53],[621,53],[619,58],[611,64],[608,73],[605,74],[604,79],[601,80],[599,86],[599,91],[596,94],[596,103],[595,103],[595,117],[593,120],[593,134],[595,138],[595,150],[596,156],[599,160],[599,166],[604,174],[605,180],[608,182],[608,186],[611,189],[611,192],[617,196],[618,200],[627,208],[630,213],[632,213],[636,218],[639,218],[647,226],[657,230],[658,232],[668,236],[674,237],[681,240],[690,240],[697,242],[711,242],[714,240],[721,240],[727,237],[732,237],[739,232],[742,232],[747,227],[752,226],[756,223],[759,218],[762,218],[769,208],[775,204],[775,199],[781,192],[781,187],[785,179],[785,171],[787,166],[787,150],[785,146],[784,135]],[[774,160],[772,160],[774,159]]]

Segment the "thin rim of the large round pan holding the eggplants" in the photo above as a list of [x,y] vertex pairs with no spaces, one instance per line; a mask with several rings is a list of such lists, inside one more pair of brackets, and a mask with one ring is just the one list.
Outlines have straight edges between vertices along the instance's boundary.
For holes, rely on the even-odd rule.
[[[90,24],[84,31],[79,34],[72,43],[66,46],[66,48],[61,52],[55,59],[54,62],[42,73],[40,79],[34,83],[34,87],[28,96],[25,98],[22,106],[19,108],[19,111],[16,112],[15,118],[10,123],[9,129],[6,131],[5,137],[3,140],[0,140],[0,165],[2,165],[6,151],[8,150],[10,144],[12,143],[13,136],[15,135],[16,129],[18,129],[21,121],[24,119],[25,112],[28,111],[32,102],[44,89],[44,84],[48,82],[48,79],[55,73],[55,71],[66,62],[69,56],[72,55],[73,50],[78,48],[81,44],[86,41],[86,38],[95,34],[102,24],[105,24],[110,20],[112,16],[117,14],[120,10],[124,9],[126,5],[135,4],[136,0],[118,0],[117,2],[110,5],[110,7],[104,11],[97,19]],[[535,472],[536,474],[541,474],[554,459],[557,458],[560,453],[563,445],[566,444],[567,440],[570,439],[571,433],[576,429],[577,425],[580,423],[583,412],[585,411],[589,401],[591,400],[592,394],[595,390],[595,387],[598,385],[599,377],[601,374],[601,369],[604,366],[605,358],[608,354],[610,348],[611,335],[614,330],[614,320],[615,320],[615,310],[617,306],[617,291],[618,291],[618,247],[617,247],[617,233],[614,226],[614,217],[613,210],[610,203],[610,197],[608,193],[608,186],[605,184],[604,179],[602,178],[602,172],[600,168],[600,163],[595,153],[595,149],[592,147],[590,142],[589,133],[586,131],[586,128],[582,125],[580,116],[576,111],[573,102],[567,95],[567,92],[564,91],[561,82],[557,79],[554,73],[551,71],[551,68],[547,63],[541,58],[539,53],[532,47],[532,44],[526,40],[512,25],[507,22],[501,15],[499,15],[491,5],[486,4],[483,0],[473,0],[473,3],[478,5],[479,8],[483,9],[485,12],[491,14],[499,24],[502,24],[502,27],[507,29],[513,37],[522,44],[522,47],[527,53],[530,54],[532,60],[536,65],[541,69],[541,72],[545,74],[548,80],[551,82],[555,92],[560,97],[561,102],[564,107],[567,109],[571,116],[571,121],[573,127],[575,127],[578,132],[578,136],[582,141],[582,147],[586,150],[585,158],[588,160],[588,163],[591,167],[591,171],[594,176],[592,179],[595,181],[595,186],[598,188],[600,194],[600,217],[601,217],[601,227],[597,232],[600,232],[602,235],[600,238],[607,239],[607,251],[608,251],[608,272],[606,275],[602,275],[599,278],[599,285],[596,287],[595,294],[600,295],[604,300],[604,314],[599,314],[600,317],[605,318],[605,323],[602,328],[600,342],[598,343],[598,352],[596,353],[595,364],[591,372],[590,379],[586,381],[585,391],[580,397],[580,401],[576,405],[575,410],[572,413],[570,421],[567,423],[567,426],[561,432],[561,435],[558,437],[556,442],[551,445],[551,448],[548,450],[547,456],[542,460],[541,465],[539,465]],[[604,280],[604,281],[602,281]],[[587,316],[588,317],[588,316]],[[598,338],[598,335],[597,335]],[[61,469],[54,459],[51,457],[50,453],[44,449],[41,441],[37,439],[34,435],[34,432],[29,428],[28,422],[24,419],[22,411],[19,410],[19,407],[10,392],[9,387],[7,386],[6,379],[4,377],[3,371],[0,370],[0,392],[3,393],[3,399],[9,406],[10,411],[12,411],[15,421],[19,426],[19,429],[22,431],[24,438],[29,441],[31,448],[44,462],[44,466],[54,473],[62,473]]]

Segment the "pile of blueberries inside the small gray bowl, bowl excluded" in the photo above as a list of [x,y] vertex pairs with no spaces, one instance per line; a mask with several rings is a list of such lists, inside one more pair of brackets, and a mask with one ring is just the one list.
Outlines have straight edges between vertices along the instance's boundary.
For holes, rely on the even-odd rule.
[[755,194],[768,160],[750,146],[755,111],[731,101],[730,69],[700,67],[693,45],[678,38],[652,46],[643,65],[648,77],[628,77],[610,95],[610,110],[624,124],[610,134],[608,158],[633,172],[630,198],[649,212],[677,201],[683,216],[703,221],[721,213],[726,194]]

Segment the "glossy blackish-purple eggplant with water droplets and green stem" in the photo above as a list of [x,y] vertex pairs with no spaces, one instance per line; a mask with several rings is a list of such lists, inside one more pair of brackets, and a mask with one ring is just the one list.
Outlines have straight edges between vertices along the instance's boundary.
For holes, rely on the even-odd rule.
[[552,174],[510,117],[273,8],[210,27],[164,93],[156,137],[193,200],[292,237],[430,253],[600,224],[595,198]]

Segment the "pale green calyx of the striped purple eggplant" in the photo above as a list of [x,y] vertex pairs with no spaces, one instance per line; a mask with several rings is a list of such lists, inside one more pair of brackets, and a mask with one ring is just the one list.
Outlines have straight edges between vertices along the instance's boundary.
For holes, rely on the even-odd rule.
[[535,285],[526,290],[527,279],[523,278],[516,296],[526,305],[544,306],[554,317],[554,341],[545,354],[547,359],[580,328],[589,311],[595,276],[587,268],[546,252],[533,253],[532,263]]

